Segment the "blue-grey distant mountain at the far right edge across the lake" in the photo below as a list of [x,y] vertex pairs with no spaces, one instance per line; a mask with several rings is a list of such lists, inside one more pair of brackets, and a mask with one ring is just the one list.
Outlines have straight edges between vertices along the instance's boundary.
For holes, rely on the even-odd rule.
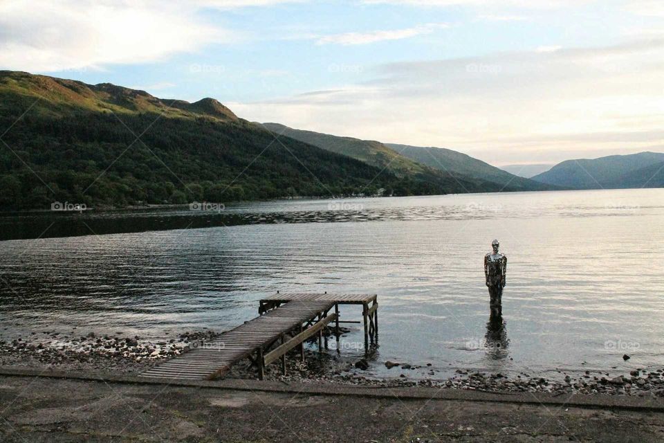
[[661,176],[658,181],[653,174],[663,161],[664,154],[658,152],[566,160],[533,180],[574,189],[654,188],[661,183]]

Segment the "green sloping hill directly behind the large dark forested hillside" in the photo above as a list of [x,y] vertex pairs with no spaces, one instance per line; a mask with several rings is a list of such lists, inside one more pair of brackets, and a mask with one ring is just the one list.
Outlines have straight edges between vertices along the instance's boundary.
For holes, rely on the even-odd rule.
[[[427,163],[414,161],[413,159],[409,159],[408,156],[400,154],[400,147],[393,149],[393,147],[378,141],[360,140],[359,138],[303,131],[286,127],[279,123],[263,123],[261,126],[270,129],[275,132],[275,134],[284,134],[285,136],[295,138],[304,143],[321,147],[324,150],[351,156],[353,159],[364,161],[365,163],[374,165],[381,170],[389,170],[389,172],[394,173],[397,177],[411,177],[418,182],[435,183],[436,186],[450,189],[450,192],[463,193],[522,190],[522,188],[519,187],[518,181],[514,183],[515,186],[513,186],[513,183],[507,183],[507,186],[504,186],[506,182],[496,183],[496,181],[493,181],[488,177],[481,177],[481,174],[468,174],[465,171],[457,170],[445,171],[437,166],[432,167],[431,165],[427,165]],[[459,153],[457,152],[457,154]],[[504,174],[510,175],[507,172],[504,172]],[[546,188],[546,186],[542,186],[540,183],[537,183],[535,186]]]

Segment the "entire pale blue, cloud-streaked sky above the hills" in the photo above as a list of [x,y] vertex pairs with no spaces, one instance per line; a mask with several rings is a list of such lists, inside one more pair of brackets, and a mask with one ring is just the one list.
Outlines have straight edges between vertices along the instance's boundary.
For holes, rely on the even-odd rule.
[[0,69],[498,166],[664,152],[661,0],[5,0]]

